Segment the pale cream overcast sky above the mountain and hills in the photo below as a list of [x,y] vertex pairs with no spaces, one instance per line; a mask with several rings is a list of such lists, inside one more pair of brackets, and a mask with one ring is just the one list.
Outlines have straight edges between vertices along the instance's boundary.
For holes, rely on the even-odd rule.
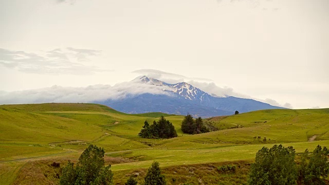
[[327,0],[0,1],[0,104],[115,97],[147,75],[329,107],[328,10]]

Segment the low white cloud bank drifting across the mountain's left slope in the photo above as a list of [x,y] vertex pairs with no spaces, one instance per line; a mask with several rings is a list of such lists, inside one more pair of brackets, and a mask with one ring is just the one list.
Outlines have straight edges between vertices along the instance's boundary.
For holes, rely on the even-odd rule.
[[107,99],[122,99],[148,92],[150,94],[170,94],[163,87],[130,81],[111,85],[92,85],[87,87],[52,87],[6,92],[0,91],[0,104],[24,103],[89,103]]

